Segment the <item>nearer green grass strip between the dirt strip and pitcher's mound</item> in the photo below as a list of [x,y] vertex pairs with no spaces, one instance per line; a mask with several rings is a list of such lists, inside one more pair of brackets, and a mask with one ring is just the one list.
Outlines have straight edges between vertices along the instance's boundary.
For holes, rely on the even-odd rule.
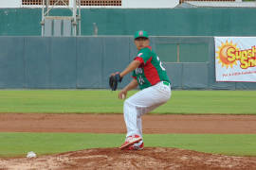
[[[62,153],[86,148],[118,147],[124,134],[0,133],[0,157]],[[200,152],[256,156],[255,134],[145,134],[146,147],[176,147]]]

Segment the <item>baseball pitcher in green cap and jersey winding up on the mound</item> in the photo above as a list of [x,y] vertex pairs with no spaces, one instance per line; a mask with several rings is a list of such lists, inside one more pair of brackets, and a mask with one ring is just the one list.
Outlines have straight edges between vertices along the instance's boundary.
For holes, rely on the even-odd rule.
[[119,98],[126,98],[127,92],[139,87],[140,91],[127,98],[123,104],[124,121],[127,134],[120,149],[143,149],[141,116],[160,105],[171,97],[171,81],[161,60],[152,50],[148,33],[137,31],[136,58],[121,73],[114,73],[109,78],[109,85],[116,90],[122,77],[133,72],[133,80],[119,92]]

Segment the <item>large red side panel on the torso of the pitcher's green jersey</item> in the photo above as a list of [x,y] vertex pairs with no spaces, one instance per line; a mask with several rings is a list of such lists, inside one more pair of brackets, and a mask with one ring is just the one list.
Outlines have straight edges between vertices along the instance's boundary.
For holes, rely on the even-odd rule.
[[155,85],[160,81],[160,77],[155,69],[155,66],[151,63],[152,57],[146,62],[144,66],[144,75],[149,80],[151,85]]

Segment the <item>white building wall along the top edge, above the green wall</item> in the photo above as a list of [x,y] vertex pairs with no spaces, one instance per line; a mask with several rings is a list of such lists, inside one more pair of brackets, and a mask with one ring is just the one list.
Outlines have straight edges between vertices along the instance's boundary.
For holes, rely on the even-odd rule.
[[[178,4],[179,0],[121,0],[121,6],[82,6],[81,8],[174,8]],[[73,0],[69,0],[69,6],[70,8],[73,7]],[[0,0],[0,8],[41,7],[38,5],[22,5],[22,0]]]

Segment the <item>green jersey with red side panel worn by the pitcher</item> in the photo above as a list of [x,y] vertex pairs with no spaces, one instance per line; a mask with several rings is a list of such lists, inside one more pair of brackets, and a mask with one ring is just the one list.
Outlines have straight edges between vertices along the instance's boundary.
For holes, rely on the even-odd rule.
[[153,86],[160,81],[171,83],[162,62],[151,46],[139,50],[134,60],[140,62],[138,68],[133,71],[133,77],[137,79],[140,90]]

